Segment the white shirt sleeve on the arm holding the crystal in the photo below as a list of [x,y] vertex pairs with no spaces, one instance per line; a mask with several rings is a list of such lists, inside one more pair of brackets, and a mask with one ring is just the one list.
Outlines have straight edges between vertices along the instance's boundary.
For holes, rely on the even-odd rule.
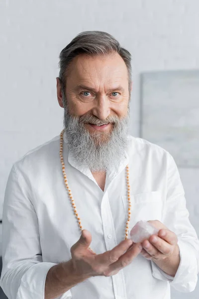
[[192,292],[198,281],[199,239],[190,223],[185,191],[177,165],[170,153],[168,153],[167,198],[162,222],[178,236],[180,264],[175,277],[172,277],[151,261],[152,275],[159,280],[168,281],[177,291]]

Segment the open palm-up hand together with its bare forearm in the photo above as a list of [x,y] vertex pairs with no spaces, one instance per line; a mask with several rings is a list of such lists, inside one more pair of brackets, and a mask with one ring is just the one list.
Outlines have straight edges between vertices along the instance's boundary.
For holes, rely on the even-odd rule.
[[57,298],[92,276],[117,274],[142,250],[139,248],[141,243],[133,244],[128,239],[112,250],[97,255],[89,249],[91,241],[90,232],[83,230],[78,242],[71,247],[72,259],[49,269],[45,281],[45,299]]

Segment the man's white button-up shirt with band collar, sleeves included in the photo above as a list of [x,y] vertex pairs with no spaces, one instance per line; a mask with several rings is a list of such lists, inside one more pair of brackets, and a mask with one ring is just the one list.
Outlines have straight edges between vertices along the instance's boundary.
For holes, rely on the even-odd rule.
[[[199,273],[199,240],[189,221],[184,189],[171,154],[129,136],[126,155],[109,169],[102,191],[90,169],[78,165],[64,136],[69,186],[91,248],[103,253],[124,239],[127,220],[125,166],[129,164],[131,220],[159,220],[178,236],[180,266],[175,278],[138,255],[111,277],[92,277],[59,299],[170,299],[170,286],[192,292]],[[5,190],[0,286],[8,299],[44,299],[49,269],[71,258],[80,229],[64,185],[59,136],[15,162]]]

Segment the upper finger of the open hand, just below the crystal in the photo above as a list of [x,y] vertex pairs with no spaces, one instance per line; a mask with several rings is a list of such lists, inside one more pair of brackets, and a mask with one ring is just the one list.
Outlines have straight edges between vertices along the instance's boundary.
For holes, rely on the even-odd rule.
[[112,250],[104,252],[96,256],[99,259],[100,263],[105,263],[111,265],[112,263],[116,262],[120,256],[122,256],[132,245],[132,241],[130,239],[123,240],[117,246],[115,246]]

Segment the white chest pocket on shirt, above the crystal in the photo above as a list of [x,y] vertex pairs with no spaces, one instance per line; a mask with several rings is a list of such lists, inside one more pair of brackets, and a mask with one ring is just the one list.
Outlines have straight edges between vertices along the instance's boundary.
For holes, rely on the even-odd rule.
[[[126,220],[128,215],[128,197],[122,195]],[[160,191],[143,192],[131,195],[131,218],[129,232],[140,220],[162,220],[162,198]]]

